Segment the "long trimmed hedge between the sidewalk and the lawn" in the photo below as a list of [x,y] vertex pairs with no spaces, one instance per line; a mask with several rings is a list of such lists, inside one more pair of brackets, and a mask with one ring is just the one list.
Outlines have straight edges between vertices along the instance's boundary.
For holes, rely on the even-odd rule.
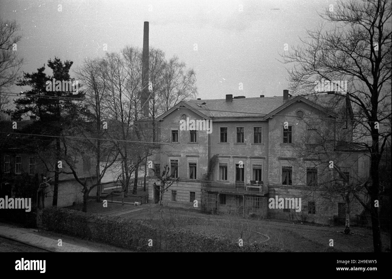
[[[143,252],[280,252],[265,243],[238,242],[225,236],[166,229],[144,220],[126,221],[72,209],[50,207],[43,212],[47,230]],[[150,240],[151,239],[151,240]],[[151,243],[152,242],[152,243]],[[149,246],[149,243],[152,246]]]

